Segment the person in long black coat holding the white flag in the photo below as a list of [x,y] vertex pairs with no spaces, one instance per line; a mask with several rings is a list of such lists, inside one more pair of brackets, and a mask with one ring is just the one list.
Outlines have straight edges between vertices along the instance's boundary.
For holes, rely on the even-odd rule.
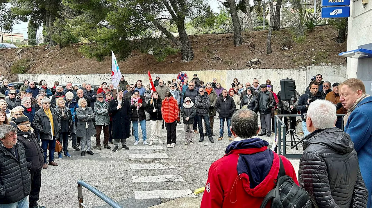
[[126,139],[129,138],[129,120],[132,118],[133,114],[128,100],[123,98],[122,89],[118,89],[118,96],[116,99],[110,101],[108,111],[112,116],[112,139],[115,142],[113,151],[118,151],[120,140],[123,145],[122,148],[129,149],[126,147]]

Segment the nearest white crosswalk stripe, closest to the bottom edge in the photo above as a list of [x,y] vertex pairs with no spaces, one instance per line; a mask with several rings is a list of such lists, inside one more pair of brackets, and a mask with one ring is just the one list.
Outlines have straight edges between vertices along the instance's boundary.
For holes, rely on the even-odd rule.
[[155,191],[135,191],[134,196],[136,199],[169,199],[180,197],[192,197],[190,189],[181,190],[155,190]]

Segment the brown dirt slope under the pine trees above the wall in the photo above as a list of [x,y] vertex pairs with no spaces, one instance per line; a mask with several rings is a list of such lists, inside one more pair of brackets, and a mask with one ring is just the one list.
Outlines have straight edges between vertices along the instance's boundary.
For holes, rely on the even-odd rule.
[[[190,36],[195,58],[192,62],[183,63],[180,53],[168,56],[164,62],[157,62],[152,55],[133,52],[125,61],[119,62],[122,73],[178,73],[187,70],[221,70],[247,68],[298,68],[312,63],[322,62],[332,65],[346,64],[346,59],[338,56],[346,51],[346,43],[335,42],[337,30],[332,26],[320,26],[314,32],[307,33],[302,43],[295,43],[288,38],[289,30],[273,33],[273,53],[266,55],[266,31],[244,32],[244,44],[235,47],[233,33],[203,34]],[[17,49],[0,51],[0,71],[7,73],[10,65],[19,58],[30,59],[31,69],[26,73],[52,74],[88,74],[109,73],[111,57],[103,62],[87,59],[78,52],[79,44],[59,50],[45,49],[45,46],[23,49],[18,55]],[[283,49],[288,48],[288,49]],[[259,58],[260,63],[248,64],[253,58]],[[313,60],[313,61],[312,61]],[[315,60],[315,62],[314,62]]]

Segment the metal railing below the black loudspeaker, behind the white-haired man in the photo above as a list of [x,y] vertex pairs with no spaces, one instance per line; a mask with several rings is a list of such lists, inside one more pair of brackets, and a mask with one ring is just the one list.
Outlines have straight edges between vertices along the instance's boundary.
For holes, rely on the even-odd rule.
[[[280,154],[280,155],[283,155],[285,156],[286,158],[291,158],[291,159],[299,159],[301,158],[301,155],[302,154],[287,154],[286,153],[286,135],[288,134],[287,133],[287,127],[285,126],[285,123],[283,122],[281,118],[284,118],[284,117],[298,117],[298,116],[301,116],[299,114],[295,114],[295,115],[290,115],[290,114],[283,114],[283,115],[275,115],[274,117],[274,128],[275,128],[275,138],[276,138],[276,143],[278,144],[278,146],[276,147],[276,153]],[[337,114],[337,118],[338,117],[344,117],[345,114]],[[288,122],[291,118],[288,119]],[[343,129],[344,128],[344,119],[341,119],[341,128]],[[282,142],[283,142],[283,148],[282,148]],[[294,140],[291,140],[291,142],[299,142],[299,141],[294,141]],[[300,145],[299,145],[300,146]],[[302,147],[302,145],[301,145]]]

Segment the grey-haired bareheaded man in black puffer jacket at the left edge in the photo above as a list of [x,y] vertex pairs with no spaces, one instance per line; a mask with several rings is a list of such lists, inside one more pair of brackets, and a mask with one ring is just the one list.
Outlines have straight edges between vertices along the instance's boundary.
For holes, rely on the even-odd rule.
[[[0,207],[28,207],[31,187],[30,164],[25,147],[17,142],[16,129],[10,125],[0,128]],[[6,167],[6,168],[5,168]]]

